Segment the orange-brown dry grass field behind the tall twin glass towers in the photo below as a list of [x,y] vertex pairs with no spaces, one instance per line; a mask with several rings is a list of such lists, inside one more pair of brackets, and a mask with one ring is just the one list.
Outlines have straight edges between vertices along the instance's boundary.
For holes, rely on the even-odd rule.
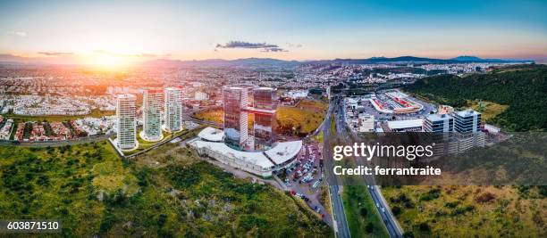
[[[319,127],[327,108],[327,103],[316,100],[302,100],[294,107],[280,106],[276,114],[277,130],[284,135],[307,135]],[[199,111],[194,117],[223,123],[223,109]],[[252,125],[251,116],[248,125]]]

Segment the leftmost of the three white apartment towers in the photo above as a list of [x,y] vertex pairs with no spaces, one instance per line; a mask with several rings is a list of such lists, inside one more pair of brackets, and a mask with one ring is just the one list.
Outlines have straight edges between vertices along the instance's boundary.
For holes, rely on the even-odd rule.
[[118,95],[116,116],[118,118],[117,144],[122,150],[130,150],[137,146],[137,123],[135,121],[135,102],[133,94]]

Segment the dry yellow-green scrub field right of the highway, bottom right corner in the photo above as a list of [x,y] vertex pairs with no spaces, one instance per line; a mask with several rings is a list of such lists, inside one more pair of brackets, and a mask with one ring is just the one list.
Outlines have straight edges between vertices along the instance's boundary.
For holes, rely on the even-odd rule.
[[383,187],[393,214],[415,237],[545,237],[547,200],[536,187]]

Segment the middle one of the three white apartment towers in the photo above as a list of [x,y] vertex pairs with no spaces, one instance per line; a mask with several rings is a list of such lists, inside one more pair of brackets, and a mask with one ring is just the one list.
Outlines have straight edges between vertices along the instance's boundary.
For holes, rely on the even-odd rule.
[[146,141],[159,141],[163,138],[160,115],[161,103],[164,99],[162,90],[146,90],[142,97],[143,130],[140,137]]

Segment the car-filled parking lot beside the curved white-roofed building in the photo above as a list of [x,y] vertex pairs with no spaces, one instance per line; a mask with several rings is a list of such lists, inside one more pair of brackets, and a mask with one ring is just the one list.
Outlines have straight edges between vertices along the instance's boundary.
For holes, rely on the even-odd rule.
[[287,169],[283,182],[290,194],[306,201],[307,205],[319,213],[325,221],[330,221],[331,216],[320,202],[324,176],[319,144],[316,142],[304,144],[297,160],[293,167]]

